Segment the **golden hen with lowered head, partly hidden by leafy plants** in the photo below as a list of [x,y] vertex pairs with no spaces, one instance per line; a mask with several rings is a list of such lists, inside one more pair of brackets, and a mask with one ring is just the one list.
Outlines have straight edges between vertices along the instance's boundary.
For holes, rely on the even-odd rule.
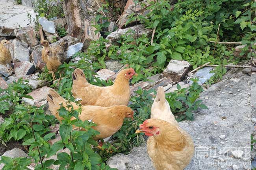
[[[60,108],[59,104],[63,103],[63,106],[66,107],[67,101],[53,89],[50,89],[47,101],[52,115],[60,121],[63,120],[58,113],[58,109]],[[72,102],[71,104],[74,109],[78,109],[78,106],[75,103]],[[100,132],[100,134],[95,137],[95,140],[98,140],[110,137],[116,133],[121,128],[124,118],[133,118],[133,115],[134,112],[132,109],[124,105],[115,105],[111,107],[87,105],[82,106],[80,120],[92,120],[95,122],[97,126],[93,126],[92,128]],[[74,117],[71,118],[71,120],[74,119]]]

